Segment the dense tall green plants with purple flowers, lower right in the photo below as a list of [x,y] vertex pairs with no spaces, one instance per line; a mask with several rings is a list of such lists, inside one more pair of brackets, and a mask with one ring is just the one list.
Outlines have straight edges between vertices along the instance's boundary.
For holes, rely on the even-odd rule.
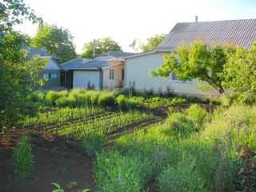
[[255,106],[213,115],[196,105],[171,111],[166,123],[125,134],[114,150],[98,154],[98,190],[145,191],[155,178],[161,192],[254,191],[255,119]]

